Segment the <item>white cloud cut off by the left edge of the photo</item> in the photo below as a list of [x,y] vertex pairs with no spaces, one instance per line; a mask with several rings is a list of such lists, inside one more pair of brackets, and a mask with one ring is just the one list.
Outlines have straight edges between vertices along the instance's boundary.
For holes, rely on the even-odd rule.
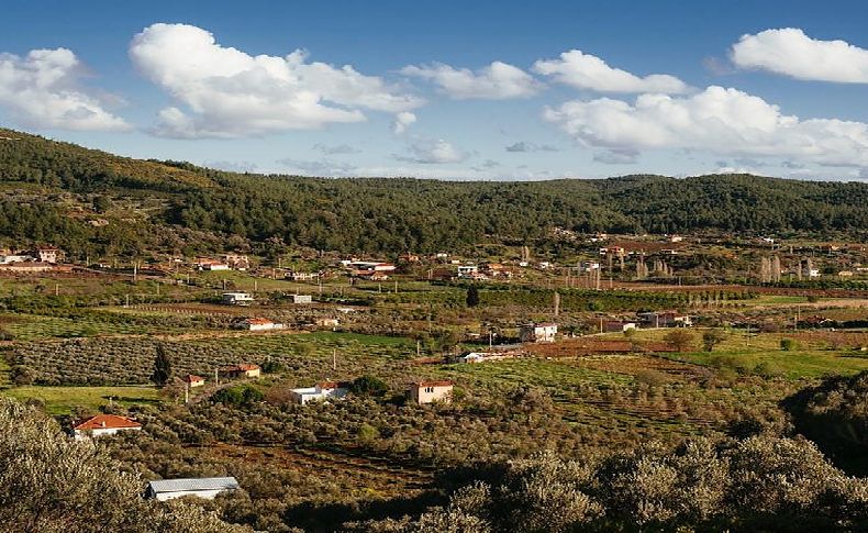
[[0,107],[30,127],[124,131],[130,124],[79,86],[81,63],[66,48],[0,54]]

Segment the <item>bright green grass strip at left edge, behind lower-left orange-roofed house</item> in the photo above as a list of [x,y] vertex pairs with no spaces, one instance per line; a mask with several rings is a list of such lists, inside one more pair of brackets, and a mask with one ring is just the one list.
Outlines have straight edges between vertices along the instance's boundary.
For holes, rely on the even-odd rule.
[[110,398],[125,407],[158,401],[154,387],[13,387],[0,393],[22,401],[38,400],[52,415],[70,414],[76,408],[97,412]]

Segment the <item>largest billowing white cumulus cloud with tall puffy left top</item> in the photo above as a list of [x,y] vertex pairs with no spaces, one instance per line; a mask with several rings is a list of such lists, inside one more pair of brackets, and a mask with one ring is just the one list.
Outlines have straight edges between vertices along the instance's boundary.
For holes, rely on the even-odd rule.
[[155,133],[233,137],[359,122],[363,109],[399,113],[423,101],[352,66],[309,63],[303,51],[252,56],[187,24],[153,24],[130,45],[136,68],[187,109],[164,109]]

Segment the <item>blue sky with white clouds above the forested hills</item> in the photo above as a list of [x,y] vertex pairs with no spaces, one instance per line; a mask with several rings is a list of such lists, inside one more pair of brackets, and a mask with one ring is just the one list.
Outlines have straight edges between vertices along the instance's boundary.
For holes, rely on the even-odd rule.
[[868,2],[10,2],[0,125],[237,171],[868,180]]

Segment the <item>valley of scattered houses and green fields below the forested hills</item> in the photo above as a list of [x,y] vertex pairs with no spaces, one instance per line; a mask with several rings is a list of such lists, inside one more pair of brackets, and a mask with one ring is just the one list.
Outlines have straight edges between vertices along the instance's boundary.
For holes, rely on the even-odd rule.
[[[381,454],[416,476],[427,464],[479,458],[455,451],[481,438],[472,432],[441,434],[450,444],[424,458],[400,451],[401,440],[422,446],[424,432],[396,433],[383,421],[392,417],[458,427],[533,401],[560,421],[546,431],[603,423],[615,442],[677,438],[767,412],[833,368],[868,368],[859,355],[868,349],[864,245],[552,235],[557,254],[522,245],[130,260],[11,246],[0,251],[2,393],[42,406],[70,438],[121,446],[156,445],[168,427],[215,409],[301,424],[291,437],[244,422],[194,437],[171,430],[163,445],[210,443],[177,453],[219,466],[154,464],[143,497],[211,500],[254,489],[248,462],[263,446],[282,449],[283,460],[368,465],[341,475],[353,484],[374,482],[359,476]],[[748,387],[763,393],[744,404]],[[369,414],[359,419],[359,409]],[[491,430],[492,453],[528,442],[523,432],[543,431],[539,423],[509,436]],[[230,443],[244,467],[216,455]],[[407,487],[382,490],[421,490]]]

